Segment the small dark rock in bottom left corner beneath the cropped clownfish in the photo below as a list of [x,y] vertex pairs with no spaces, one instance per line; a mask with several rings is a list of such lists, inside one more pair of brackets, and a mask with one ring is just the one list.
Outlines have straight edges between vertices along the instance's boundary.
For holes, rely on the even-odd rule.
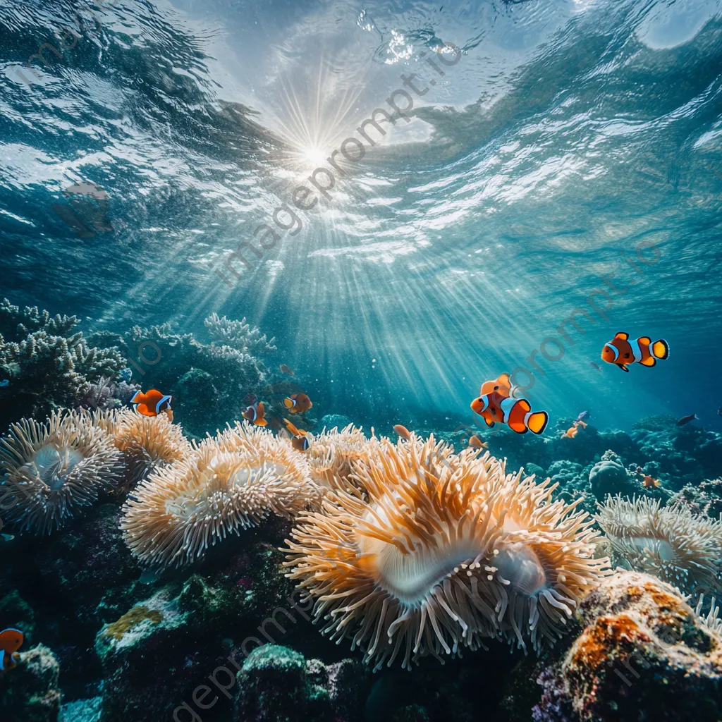
[[0,718],[3,722],[56,722],[60,712],[60,666],[39,644],[20,652],[17,667],[0,674]]

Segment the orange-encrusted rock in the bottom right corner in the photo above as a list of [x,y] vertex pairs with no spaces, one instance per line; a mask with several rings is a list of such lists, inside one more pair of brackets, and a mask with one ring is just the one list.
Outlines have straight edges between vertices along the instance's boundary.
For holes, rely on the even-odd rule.
[[676,589],[650,575],[604,580],[580,606],[584,629],[539,677],[535,722],[716,722],[722,638]]

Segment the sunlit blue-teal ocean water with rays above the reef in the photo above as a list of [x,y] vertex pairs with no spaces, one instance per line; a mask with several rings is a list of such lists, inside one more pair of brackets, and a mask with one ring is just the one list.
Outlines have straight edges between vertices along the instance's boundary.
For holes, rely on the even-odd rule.
[[[4,0],[0,32],[12,303],[245,316],[385,430],[512,370],[552,420],[722,428],[718,0]],[[620,373],[617,331],[669,360]]]

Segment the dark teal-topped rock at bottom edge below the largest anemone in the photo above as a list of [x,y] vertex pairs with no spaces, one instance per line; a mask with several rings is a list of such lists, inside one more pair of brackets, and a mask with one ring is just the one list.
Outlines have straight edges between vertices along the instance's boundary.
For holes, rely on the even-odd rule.
[[359,661],[323,664],[292,649],[254,649],[238,673],[234,722],[362,722],[372,677]]

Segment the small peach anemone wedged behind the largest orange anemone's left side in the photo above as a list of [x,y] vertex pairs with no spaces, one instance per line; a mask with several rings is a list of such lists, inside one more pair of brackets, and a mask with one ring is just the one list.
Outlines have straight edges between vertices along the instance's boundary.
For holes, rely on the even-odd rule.
[[357,463],[365,463],[375,448],[377,439],[367,439],[364,432],[349,424],[341,431],[334,427],[320,434],[310,435],[306,454],[313,481],[331,490],[342,490],[360,495],[365,490],[354,474]]

